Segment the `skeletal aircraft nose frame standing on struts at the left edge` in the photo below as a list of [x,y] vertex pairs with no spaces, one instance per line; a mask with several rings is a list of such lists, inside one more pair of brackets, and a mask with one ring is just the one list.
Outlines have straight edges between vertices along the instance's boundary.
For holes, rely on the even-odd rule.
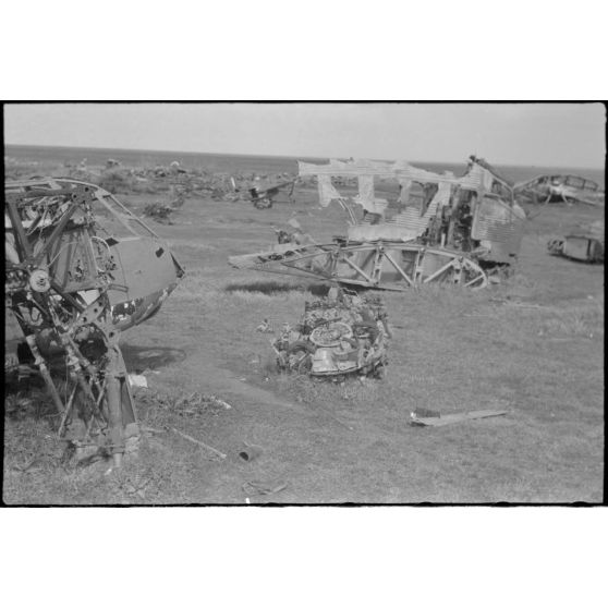
[[165,241],[96,185],[5,182],[4,197],[4,374],[37,368],[59,437],[76,451],[112,454],[120,466],[138,436],[120,332],[155,315],[183,269]]

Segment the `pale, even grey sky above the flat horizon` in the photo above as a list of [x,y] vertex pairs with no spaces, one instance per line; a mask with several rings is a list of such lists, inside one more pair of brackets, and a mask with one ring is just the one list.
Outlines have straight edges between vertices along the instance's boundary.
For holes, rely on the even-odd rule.
[[604,167],[599,104],[4,106],[7,144]]

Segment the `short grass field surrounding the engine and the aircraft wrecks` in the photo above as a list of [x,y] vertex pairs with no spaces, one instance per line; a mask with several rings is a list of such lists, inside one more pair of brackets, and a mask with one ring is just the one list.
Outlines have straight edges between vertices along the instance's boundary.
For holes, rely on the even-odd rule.
[[[135,212],[154,196],[121,196]],[[526,227],[515,276],[482,292],[430,287],[386,293],[393,339],[385,380],[317,384],[278,376],[270,335],[293,321],[317,282],[231,269],[292,215],[318,240],[340,234],[338,209],[313,192],[256,210],[191,199],[154,224],[186,276],[149,323],[122,338],[138,389],[143,437],[120,473],[60,464],[45,411],[7,414],[7,503],[597,502],[604,475],[604,266],[549,256],[546,242],[598,210],[556,205]],[[601,217],[601,216],[599,216]],[[214,393],[232,408],[189,411]],[[415,408],[498,408],[508,415],[442,428],[409,425]],[[227,458],[185,440],[177,428]],[[239,458],[243,442],[262,447]],[[38,460],[34,460],[37,457]],[[253,496],[247,482],[287,487]]]

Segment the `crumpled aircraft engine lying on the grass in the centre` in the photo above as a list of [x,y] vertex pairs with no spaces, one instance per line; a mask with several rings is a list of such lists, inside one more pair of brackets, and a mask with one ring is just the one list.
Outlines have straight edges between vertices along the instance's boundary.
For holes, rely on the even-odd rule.
[[306,302],[300,323],[284,324],[271,345],[279,370],[339,381],[352,374],[384,377],[389,337],[379,296],[331,288],[327,297]]

